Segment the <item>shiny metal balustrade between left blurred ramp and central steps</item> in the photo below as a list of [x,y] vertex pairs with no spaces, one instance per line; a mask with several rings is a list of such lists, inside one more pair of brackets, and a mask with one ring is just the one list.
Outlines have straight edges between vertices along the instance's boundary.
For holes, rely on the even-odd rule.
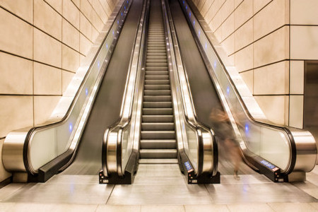
[[[122,107],[119,113],[119,122],[112,123],[109,128],[105,130],[102,140],[102,148],[106,148],[105,155],[102,155],[102,170],[104,175],[116,173],[119,176],[124,175],[124,169],[128,163],[129,157],[134,147],[134,140],[136,128],[134,126],[139,123],[131,122],[133,115],[134,104],[139,98],[139,78],[141,75],[141,56],[143,56],[143,29],[144,18],[146,16],[146,3],[143,1],[142,11],[139,13],[139,27],[136,28],[134,45],[131,51],[129,61],[129,72],[127,73],[126,86],[122,98]],[[139,133],[139,131],[138,131]],[[118,159],[120,158],[120,160]]]

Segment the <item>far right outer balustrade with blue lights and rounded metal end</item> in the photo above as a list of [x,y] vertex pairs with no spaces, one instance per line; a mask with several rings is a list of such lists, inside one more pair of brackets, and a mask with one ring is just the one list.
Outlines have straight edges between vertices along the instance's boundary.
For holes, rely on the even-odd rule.
[[[313,137],[307,136],[309,132],[304,132],[301,138],[293,138],[293,129],[269,124],[268,121],[264,122],[264,119],[259,122],[259,120],[252,117],[247,109],[253,107],[245,105],[246,102],[244,102],[248,93],[242,89],[244,85],[240,85],[242,79],[232,69],[228,68],[231,74],[226,70],[212,45],[215,41],[208,40],[207,33],[201,27],[201,23],[204,25],[204,21],[196,19],[199,13],[193,13],[187,1],[179,1],[179,3],[189,20],[190,28],[202,52],[205,64],[208,66],[208,71],[212,78],[217,79],[217,81],[214,80],[214,83],[223,93],[223,95],[220,95],[220,92],[218,92],[220,100],[228,102],[228,109],[225,107],[225,111],[229,112],[228,116],[234,121],[231,123],[235,134],[241,134],[240,145],[244,152],[247,155],[257,154],[261,156],[280,167],[285,175],[293,171],[308,172],[312,170],[316,160],[313,155],[317,154],[317,148],[313,145]],[[193,6],[192,3],[191,6]],[[195,6],[193,7],[195,8]],[[241,96],[241,93],[243,96]],[[257,110],[252,109],[252,111]],[[302,149],[304,147],[306,147],[305,150]],[[304,157],[304,155],[307,156]],[[305,163],[307,164],[305,165]]]

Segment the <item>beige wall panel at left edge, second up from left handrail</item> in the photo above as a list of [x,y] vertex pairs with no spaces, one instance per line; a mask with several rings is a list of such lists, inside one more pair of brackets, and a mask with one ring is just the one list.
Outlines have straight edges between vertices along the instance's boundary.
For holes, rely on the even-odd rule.
[[33,94],[33,62],[0,52],[0,93]]

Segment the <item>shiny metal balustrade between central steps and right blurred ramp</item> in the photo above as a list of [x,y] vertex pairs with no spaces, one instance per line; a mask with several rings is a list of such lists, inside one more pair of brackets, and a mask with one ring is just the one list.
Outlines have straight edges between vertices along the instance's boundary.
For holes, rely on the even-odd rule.
[[[216,175],[218,160],[214,157],[217,146],[213,140],[213,131],[198,122],[196,110],[192,100],[192,93],[189,89],[187,73],[184,71],[182,57],[180,55],[179,42],[175,33],[175,25],[172,21],[167,1],[163,1],[165,23],[167,26],[167,49],[170,63],[170,76],[172,76],[172,94],[174,97],[174,108],[176,116],[178,149],[185,151],[189,160],[195,168],[196,175],[201,172],[208,172]],[[167,4],[168,5],[168,4]],[[170,31],[171,30],[171,31]],[[180,125],[179,125],[180,124]],[[187,138],[187,139],[186,139]],[[201,150],[201,151],[200,151]]]

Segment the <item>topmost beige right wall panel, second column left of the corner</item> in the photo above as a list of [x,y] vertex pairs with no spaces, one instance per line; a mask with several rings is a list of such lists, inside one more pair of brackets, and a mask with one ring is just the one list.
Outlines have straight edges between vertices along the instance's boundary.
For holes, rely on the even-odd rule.
[[253,0],[245,0],[234,11],[235,30],[253,16]]

